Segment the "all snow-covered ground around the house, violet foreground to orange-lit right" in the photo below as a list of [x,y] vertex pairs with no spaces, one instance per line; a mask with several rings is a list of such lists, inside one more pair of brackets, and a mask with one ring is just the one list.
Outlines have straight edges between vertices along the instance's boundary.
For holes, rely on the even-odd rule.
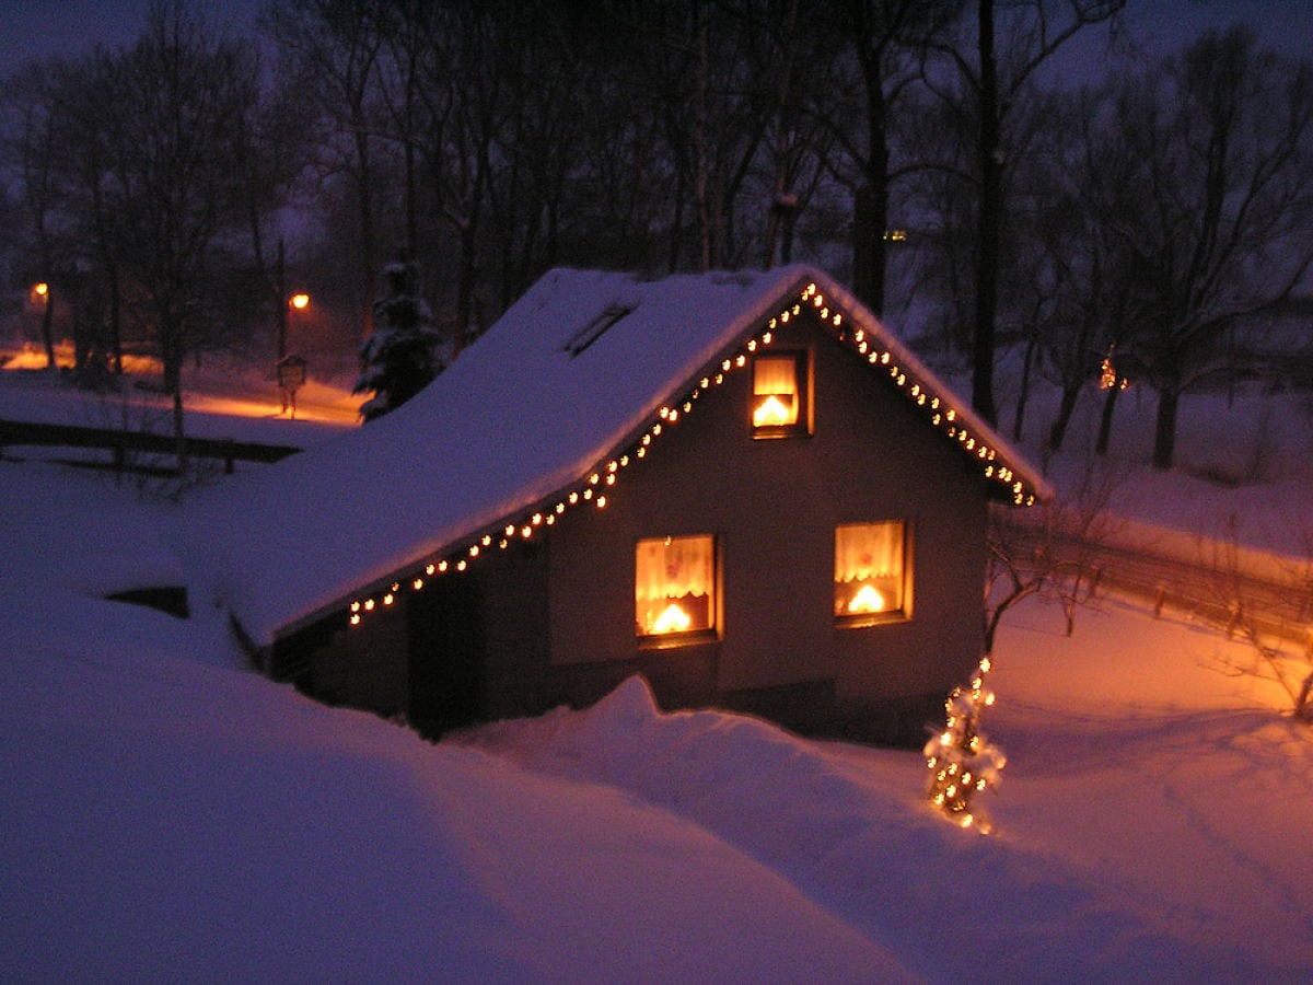
[[[32,381],[0,373],[0,406],[45,401]],[[1116,503],[1293,545],[1292,399],[1196,407],[1187,468],[1127,466]],[[1259,437],[1257,481],[1190,474]],[[7,978],[1313,977],[1313,734],[1215,633],[1115,599],[1070,638],[1012,613],[982,837],[928,808],[916,754],[662,714],[639,680],[437,746],[323,708],[242,665],[185,504],[34,461],[0,461],[0,494]],[[98,598],[179,580],[189,620]]]

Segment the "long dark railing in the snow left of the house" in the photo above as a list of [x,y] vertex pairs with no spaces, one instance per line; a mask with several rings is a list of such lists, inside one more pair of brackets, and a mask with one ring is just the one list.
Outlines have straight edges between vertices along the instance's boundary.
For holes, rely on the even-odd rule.
[[130,469],[130,453],[168,456],[181,452],[189,458],[218,458],[223,462],[223,470],[231,473],[236,461],[276,462],[301,450],[291,445],[268,445],[228,437],[183,437],[180,441],[172,435],[144,431],[0,420],[0,458],[5,457],[7,448],[13,447],[102,448],[112,456],[108,465],[121,471]]

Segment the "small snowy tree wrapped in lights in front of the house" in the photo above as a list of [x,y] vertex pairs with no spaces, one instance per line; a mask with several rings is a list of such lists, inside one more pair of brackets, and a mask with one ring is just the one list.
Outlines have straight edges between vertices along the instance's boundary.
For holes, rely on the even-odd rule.
[[944,703],[947,726],[926,743],[926,766],[930,768],[930,802],[962,827],[974,826],[989,833],[985,813],[972,806],[977,793],[998,785],[1006,762],[1002,750],[991,746],[981,732],[981,713],[994,704],[994,692],[985,690],[990,659],[982,657],[969,688],[953,688]]

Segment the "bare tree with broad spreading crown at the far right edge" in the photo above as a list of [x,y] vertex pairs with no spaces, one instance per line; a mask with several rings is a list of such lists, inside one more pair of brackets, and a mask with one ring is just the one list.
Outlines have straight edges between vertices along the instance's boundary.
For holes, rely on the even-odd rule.
[[1108,127],[1109,160],[1134,164],[1107,206],[1134,257],[1128,348],[1158,391],[1153,464],[1170,469],[1180,398],[1216,369],[1208,343],[1313,263],[1313,66],[1249,30],[1208,33],[1128,80]]

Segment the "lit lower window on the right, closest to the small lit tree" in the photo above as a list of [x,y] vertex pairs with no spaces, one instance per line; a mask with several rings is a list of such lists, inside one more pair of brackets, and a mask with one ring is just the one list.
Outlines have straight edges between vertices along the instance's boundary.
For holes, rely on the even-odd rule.
[[834,615],[867,625],[905,619],[907,529],[901,520],[855,523],[834,532]]

